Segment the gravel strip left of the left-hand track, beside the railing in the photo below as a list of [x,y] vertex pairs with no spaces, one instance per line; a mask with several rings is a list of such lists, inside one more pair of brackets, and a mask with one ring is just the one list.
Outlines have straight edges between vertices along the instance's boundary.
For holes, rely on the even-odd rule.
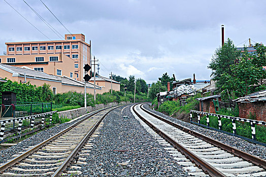
[[20,154],[19,152],[24,152],[25,148],[28,148],[29,146],[35,146],[44,140],[52,137],[53,135],[57,134],[58,132],[62,131],[63,129],[69,127],[70,125],[73,125],[78,120],[84,118],[84,116],[81,116],[80,118],[72,121],[72,122],[65,122],[63,124],[59,124],[57,126],[54,126],[52,128],[43,130],[39,132],[38,134],[29,137],[28,139],[25,139],[21,142],[19,142],[17,145],[12,146],[8,149],[0,151],[0,163],[5,163],[7,160],[12,159],[13,155]]

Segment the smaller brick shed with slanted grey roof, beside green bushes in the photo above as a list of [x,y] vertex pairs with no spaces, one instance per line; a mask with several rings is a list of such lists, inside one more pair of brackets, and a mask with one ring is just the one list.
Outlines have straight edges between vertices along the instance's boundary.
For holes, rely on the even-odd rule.
[[[213,96],[209,96],[209,97],[197,98],[197,100],[200,101],[200,111],[215,114],[216,111],[219,110],[219,108],[213,102],[213,100],[217,100],[218,102],[220,102],[221,101],[221,95],[213,95]],[[216,107],[216,111],[215,111],[215,107]]]

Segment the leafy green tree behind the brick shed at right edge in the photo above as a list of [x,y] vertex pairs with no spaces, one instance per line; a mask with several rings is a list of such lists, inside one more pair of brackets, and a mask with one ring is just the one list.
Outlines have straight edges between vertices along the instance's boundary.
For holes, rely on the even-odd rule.
[[266,78],[266,71],[263,69],[263,66],[266,66],[266,48],[258,44],[254,48],[256,53],[253,55],[245,48],[239,63],[229,66],[231,73],[221,74],[220,80],[224,81],[221,86],[224,98],[235,99],[266,88],[262,84],[262,80]]

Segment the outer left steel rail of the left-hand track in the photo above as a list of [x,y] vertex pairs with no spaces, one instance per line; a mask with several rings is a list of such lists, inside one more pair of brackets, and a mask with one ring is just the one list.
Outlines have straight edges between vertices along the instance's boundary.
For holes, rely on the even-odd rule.
[[97,114],[97,113],[99,113],[99,112],[101,112],[101,111],[104,111],[104,110],[106,110],[106,109],[109,109],[109,108],[110,108],[110,107],[108,107],[108,108],[104,108],[104,109],[98,110],[98,111],[96,111],[96,112],[94,112],[94,113],[88,115],[87,117],[85,117],[85,118],[79,120],[78,122],[74,123],[74,124],[71,125],[70,127],[65,128],[65,129],[63,129],[62,131],[58,132],[56,135],[54,135],[54,136],[50,137],[49,139],[44,140],[43,142],[39,143],[39,144],[36,145],[35,147],[33,147],[33,148],[27,150],[26,152],[20,154],[19,156],[15,157],[15,158],[13,158],[13,159],[11,159],[11,160],[9,160],[9,161],[7,161],[6,163],[4,163],[4,164],[2,164],[2,165],[0,166],[0,173],[3,173],[7,168],[9,168],[9,167],[13,166],[14,164],[18,163],[20,160],[22,160],[23,158],[29,156],[30,154],[32,154],[32,153],[38,151],[41,147],[43,147],[43,146],[45,146],[46,144],[50,143],[52,140],[54,140],[55,138],[57,138],[57,137],[59,137],[60,135],[64,134],[64,133],[67,132],[69,129],[71,129],[71,128],[77,126],[78,124],[80,124],[80,123],[83,122],[84,120],[90,118],[91,116],[93,116],[93,115],[95,115],[95,114]]

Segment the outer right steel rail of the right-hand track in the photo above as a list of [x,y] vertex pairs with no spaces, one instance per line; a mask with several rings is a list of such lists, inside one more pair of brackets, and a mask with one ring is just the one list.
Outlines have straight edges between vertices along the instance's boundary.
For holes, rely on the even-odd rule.
[[201,140],[203,140],[205,142],[208,142],[208,143],[210,143],[210,144],[212,144],[212,145],[214,145],[214,146],[216,146],[218,148],[221,148],[221,149],[223,149],[223,150],[225,150],[225,151],[227,151],[227,152],[229,152],[231,154],[234,154],[235,156],[237,156],[239,158],[243,158],[243,159],[247,160],[248,162],[251,162],[251,163],[253,163],[253,164],[255,164],[255,165],[259,166],[259,167],[262,167],[262,168],[266,169],[266,161],[261,159],[261,158],[253,156],[251,154],[248,154],[248,153],[246,153],[244,151],[241,151],[239,149],[236,149],[234,147],[230,147],[230,146],[228,146],[226,144],[223,144],[221,142],[213,140],[213,139],[211,139],[209,137],[206,137],[206,136],[204,136],[204,135],[202,135],[202,134],[200,134],[200,133],[198,133],[196,131],[190,130],[190,129],[182,126],[182,125],[179,125],[179,124],[177,124],[175,122],[172,122],[170,120],[167,120],[167,119],[165,119],[165,118],[163,118],[163,117],[161,117],[159,115],[156,115],[156,114],[144,109],[143,107],[141,107],[141,109],[143,111],[147,112],[148,114],[150,114],[150,115],[152,115],[152,116],[154,116],[154,117],[156,117],[156,118],[158,118],[158,119],[160,119],[160,120],[162,120],[162,121],[164,121],[164,122],[166,122],[166,123],[168,123],[170,125],[173,125],[173,126],[179,128],[179,129],[187,132],[190,135],[193,135],[193,136],[195,136],[195,137],[197,137],[197,138],[199,138],[199,139],[201,139]]

